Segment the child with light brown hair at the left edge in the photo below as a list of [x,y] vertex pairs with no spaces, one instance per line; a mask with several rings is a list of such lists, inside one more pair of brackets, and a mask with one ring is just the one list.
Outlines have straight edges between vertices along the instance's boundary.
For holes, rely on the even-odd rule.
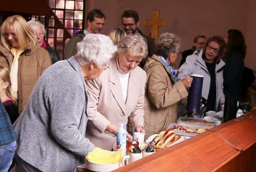
[[10,96],[11,80],[7,68],[0,66],[0,98],[12,124],[19,117],[18,109]]

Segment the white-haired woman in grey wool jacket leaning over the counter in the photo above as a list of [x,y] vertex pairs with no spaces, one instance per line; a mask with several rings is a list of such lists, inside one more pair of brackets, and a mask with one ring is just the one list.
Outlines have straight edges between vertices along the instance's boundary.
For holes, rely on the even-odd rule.
[[100,76],[117,48],[105,35],[88,34],[77,49],[75,56],[44,71],[14,123],[20,172],[73,172],[94,150],[84,137],[88,120],[84,80]]

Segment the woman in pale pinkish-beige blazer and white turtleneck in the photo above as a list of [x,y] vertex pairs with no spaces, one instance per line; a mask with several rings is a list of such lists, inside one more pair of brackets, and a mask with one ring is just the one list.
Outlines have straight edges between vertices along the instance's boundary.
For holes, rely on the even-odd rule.
[[138,67],[148,54],[141,35],[128,35],[107,70],[94,80],[86,80],[89,94],[86,137],[96,146],[116,150],[117,123],[128,118],[137,132],[144,133],[144,87],[146,72]]

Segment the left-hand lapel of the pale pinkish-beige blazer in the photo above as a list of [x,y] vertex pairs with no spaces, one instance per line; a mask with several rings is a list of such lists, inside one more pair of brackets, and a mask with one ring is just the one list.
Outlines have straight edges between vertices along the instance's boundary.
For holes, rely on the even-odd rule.
[[125,114],[125,104],[124,104],[124,97],[122,93],[122,86],[120,83],[120,79],[118,76],[118,68],[116,64],[116,57],[112,58],[110,60],[110,76],[109,76],[109,81],[113,83],[113,87],[110,89],[112,92],[114,98],[116,99],[116,102],[122,109],[122,111]]

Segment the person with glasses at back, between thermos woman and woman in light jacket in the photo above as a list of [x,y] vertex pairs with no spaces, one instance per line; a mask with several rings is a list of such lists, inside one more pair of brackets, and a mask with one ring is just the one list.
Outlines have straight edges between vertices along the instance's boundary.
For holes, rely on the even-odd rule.
[[[180,66],[185,63],[186,58],[189,55],[199,53],[201,49],[204,48],[204,44],[206,43],[207,38],[204,35],[196,35],[194,37],[193,46],[192,49],[188,49],[183,51],[182,53],[182,59],[180,61]],[[180,68],[179,66],[179,68]]]

